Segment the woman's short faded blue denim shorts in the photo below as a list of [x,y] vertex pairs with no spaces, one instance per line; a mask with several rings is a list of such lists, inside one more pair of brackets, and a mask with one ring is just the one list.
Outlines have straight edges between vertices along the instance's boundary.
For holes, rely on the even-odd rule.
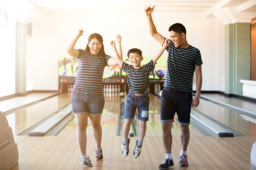
[[91,115],[102,113],[105,99],[102,94],[73,91],[72,113],[88,112]]

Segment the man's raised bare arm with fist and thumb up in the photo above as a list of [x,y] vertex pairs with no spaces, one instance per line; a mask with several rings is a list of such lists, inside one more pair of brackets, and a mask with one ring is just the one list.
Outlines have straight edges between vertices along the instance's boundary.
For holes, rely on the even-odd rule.
[[152,19],[152,16],[151,16],[151,13],[153,12],[154,10],[154,7],[155,5],[151,8],[151,7],[145,7],[144,11],[145,11],[145,14],[147,15],[147,18],[148,18],[148,28],[149,28],[149,33],[152,37],[154,37],[154,39],[159,42],[161,45],[163,45],[163,42],[164,42],[164,36],[159,34],[157,31],[156,31],[156,26],[154,25],[154,22],[153,22],[153,19]]

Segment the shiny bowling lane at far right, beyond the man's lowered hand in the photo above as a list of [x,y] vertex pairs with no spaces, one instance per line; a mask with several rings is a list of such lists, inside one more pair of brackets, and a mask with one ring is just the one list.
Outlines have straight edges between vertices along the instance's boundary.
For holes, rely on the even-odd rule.
[[242,135],[256,136],[256,119],[252,117],[202,99],[195,109]]

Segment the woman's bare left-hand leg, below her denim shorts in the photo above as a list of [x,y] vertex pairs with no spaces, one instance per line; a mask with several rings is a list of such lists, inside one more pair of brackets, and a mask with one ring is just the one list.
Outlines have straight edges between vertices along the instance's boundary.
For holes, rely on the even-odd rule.
[[75,113],[75,117],[77,120],[77,143],[79,145],[80,151],[82,155],[86,154],[86,143],[87,143],[87,135],[86,135],[86,128],[87,128],[87,119],[88,113]]

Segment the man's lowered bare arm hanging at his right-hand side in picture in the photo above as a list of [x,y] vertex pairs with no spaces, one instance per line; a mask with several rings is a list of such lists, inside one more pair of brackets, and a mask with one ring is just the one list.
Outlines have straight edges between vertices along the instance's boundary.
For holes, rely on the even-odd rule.
[[202,65],[195,66],[196,71],[196,85],[197,85],[197,91],[196,95],[192,100],[192,107],[197,107],[199,105],[199,99],[200,99],[200,92],[202,87]]

